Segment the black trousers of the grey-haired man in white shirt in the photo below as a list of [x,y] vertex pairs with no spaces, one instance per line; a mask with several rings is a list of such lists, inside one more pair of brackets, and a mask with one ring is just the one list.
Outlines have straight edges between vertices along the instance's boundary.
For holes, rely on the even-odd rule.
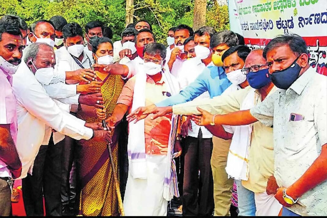
[[52,136],[49,145],[41,145],[34,160],[32,175],[22,179],[24,206],[27,216],[43,216],[43,196],[45,214],[61,216],[61,150],[63,141],[54,144]]

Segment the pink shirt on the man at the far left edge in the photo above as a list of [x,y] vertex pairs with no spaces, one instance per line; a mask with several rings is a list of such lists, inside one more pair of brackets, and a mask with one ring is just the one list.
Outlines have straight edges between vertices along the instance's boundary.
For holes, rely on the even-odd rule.
[[[17,142],[16,99],[12,93],[12,75],[0,68],[0,124],[10,124],[10,134]],[[7,164],[0,160],[0,177],[10,176]]]

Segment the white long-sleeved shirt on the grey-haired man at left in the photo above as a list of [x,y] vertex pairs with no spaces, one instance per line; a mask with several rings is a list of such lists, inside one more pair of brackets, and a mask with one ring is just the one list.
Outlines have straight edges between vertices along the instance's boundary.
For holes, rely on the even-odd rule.
[[92,137],[93,130],[84,126],[85,121],[63,112],[57,106],[25,62],[20,64],[13,76],[12,88],[18,121],[16,148],[23,165],[20,178],[26,177],[27,172],[32,173],[34,159],[48,126],[77,140]]

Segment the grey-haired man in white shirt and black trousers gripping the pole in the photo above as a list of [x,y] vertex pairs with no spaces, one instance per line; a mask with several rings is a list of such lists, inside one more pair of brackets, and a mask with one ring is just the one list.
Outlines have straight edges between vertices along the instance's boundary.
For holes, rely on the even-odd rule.
[[[62,111],[45,92],[38,81],[39,77],[35,75],[46,74],[48,71],[53,72],[56,61],[51,46],[32,43],[26,49],[24,61],[13,78],[13,92],[17,101],[17,151],[23,164],[21,178],[24,178],[23,197],[26,214],[43,215],[42,195],[44,194],[46,214],[60,215],[61,184],[60,179],[57,178],[61,173],[60,161],[57,161],[58,165],[49,166],[48,164],[49,168],[44,171],[43,164],[46,165],[46,161],[50,159],[59,159],[61,154],[59,152],[56,155],[46,153],[47,147],[56,147],[56,145],[50,140],[50,136],[45,135],[45,130],[50,127],[77,140],[93,138],[97,141],[109,142],[110,136],[107,131],[93,131],[86,127],[101,129],[96,124],[85,123],[85,121]],[[41,146],[42,144],[49,145]],[[44,175],[43,177],[43,174],[49,171],[58,171],[58,168],[59,174],[52,172],[49,176]]]

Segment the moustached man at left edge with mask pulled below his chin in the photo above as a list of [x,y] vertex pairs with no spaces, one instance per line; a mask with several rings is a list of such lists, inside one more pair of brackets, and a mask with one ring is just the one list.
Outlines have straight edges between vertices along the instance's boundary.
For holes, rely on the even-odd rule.
[[19,26],[0,20],[0,216],[9,216],[12,178],[21,175],[22,163],[16,150],[16,100],[12,74],[21,62],[23,39]]

